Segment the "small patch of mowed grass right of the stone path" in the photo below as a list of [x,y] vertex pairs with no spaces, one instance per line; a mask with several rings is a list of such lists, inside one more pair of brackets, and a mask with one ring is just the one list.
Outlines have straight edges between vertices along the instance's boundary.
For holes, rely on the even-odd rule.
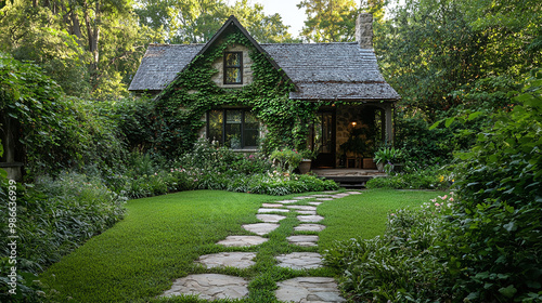
[[384,235],[387,216],[401,208],[418,208],[443,192],[367,189],[361,195],[326,202],[318,207],[318,213],[327,226],[320,233],[320,249],[326,249],[333,241],[350,238],[370,239]]

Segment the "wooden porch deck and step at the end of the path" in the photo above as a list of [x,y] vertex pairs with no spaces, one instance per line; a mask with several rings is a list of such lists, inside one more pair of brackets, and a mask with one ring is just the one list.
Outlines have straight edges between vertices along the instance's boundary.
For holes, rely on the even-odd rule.
[[369,180],[386,175],[377,170],[363,169],[314,169],[311,171],[318,176],[335,181],[345,188],[364,188]]

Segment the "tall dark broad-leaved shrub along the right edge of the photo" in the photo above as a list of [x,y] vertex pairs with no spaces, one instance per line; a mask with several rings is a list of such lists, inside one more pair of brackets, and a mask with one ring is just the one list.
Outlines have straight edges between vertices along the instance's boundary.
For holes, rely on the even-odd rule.
[[[542,300],[542,73],[477,136],[457,182],[451,274],[459,298]],[[452,249],[452,248],[450,248]]]

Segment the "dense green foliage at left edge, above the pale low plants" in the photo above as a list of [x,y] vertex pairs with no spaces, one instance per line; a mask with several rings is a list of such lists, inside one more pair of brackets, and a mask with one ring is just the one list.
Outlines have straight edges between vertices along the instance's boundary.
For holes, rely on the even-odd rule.
[[38,66],[9,55],[0,58],[0,87],[1,115],[20,126],[15,139],[31,174],[90,163],[117,168],[122,161],[122,134],[100,113],[102,104],[66,97]]

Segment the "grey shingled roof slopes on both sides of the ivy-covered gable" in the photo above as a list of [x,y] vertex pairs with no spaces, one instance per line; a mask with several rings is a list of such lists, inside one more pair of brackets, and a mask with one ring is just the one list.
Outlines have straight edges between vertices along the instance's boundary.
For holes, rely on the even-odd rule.
[[[255,42],[256,43],[256,42]],[[162,91],[207,44],[150,44],[130,91]],[[373,49],[358,43],[258,44],[293,80],[295,100],[396,101]]]

